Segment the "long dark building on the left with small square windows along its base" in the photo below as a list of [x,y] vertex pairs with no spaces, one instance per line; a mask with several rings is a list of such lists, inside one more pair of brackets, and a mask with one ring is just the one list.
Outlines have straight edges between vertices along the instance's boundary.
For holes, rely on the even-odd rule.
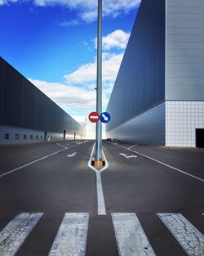
[[0,57],[0,144],[81,136],[78,122]]

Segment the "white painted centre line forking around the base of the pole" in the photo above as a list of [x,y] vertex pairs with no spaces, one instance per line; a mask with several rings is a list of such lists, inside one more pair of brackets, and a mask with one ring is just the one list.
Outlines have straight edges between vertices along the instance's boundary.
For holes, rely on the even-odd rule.
[[104,152],[103,152],[104,159],[105,159],[105,166],[100,170],[97,170],[96,168],[94,168],[94,166],[91,165],[91,159],[92,159],[92,156],[94,154],[94,148],[95,148],[95,144],[94,144],[94,146],[92,148],[92,151],[91,151],[91,156],[90,156],[90,159],[88,161],[88,167],[93,169],[95,171],[95,174],[96,174],[98,215],[106,215],[105,204],[104,204],[103,184],[102,184],[100,173],[102,173],[106,168],[109,167],[109,163],[108,163],[108,161],[107,161],[107,159],[104,155]]

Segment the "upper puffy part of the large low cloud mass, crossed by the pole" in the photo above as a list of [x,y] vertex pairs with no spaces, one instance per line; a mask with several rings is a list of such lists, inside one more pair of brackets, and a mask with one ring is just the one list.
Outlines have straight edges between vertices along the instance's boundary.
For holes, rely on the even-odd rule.
[[[103,82],[115,81],[119,67],[121,65],[123,53],[110,54],[103,53]],[[96,78],[96,60],[91,63],[81,65],[78,70],[71,74],[65,74],[67,83],[93,83]]]

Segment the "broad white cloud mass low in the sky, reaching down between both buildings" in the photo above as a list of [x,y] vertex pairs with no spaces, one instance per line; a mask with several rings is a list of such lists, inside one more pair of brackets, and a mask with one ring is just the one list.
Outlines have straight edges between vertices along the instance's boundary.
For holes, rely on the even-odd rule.
[[[118,74],[123,53],[103,54],[103,107],[109,101],[113,83]],[[64,75],[65,83],[48,83],[47,81],[29,79],[38,89],[55,101],[62,109],[71,113],[86,113],[95,110],[96,61],[82,65],[71,74]]]

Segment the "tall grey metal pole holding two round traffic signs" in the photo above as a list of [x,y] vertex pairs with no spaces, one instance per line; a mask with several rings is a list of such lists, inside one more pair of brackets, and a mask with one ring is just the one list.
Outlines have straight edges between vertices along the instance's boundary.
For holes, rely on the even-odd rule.
[[[98,0],[98,37],[97,37],[97,89],[96,112],[102,112],[102,0]],[[96,123],[95,158],[98,162],[102,159],[102,124]]]

